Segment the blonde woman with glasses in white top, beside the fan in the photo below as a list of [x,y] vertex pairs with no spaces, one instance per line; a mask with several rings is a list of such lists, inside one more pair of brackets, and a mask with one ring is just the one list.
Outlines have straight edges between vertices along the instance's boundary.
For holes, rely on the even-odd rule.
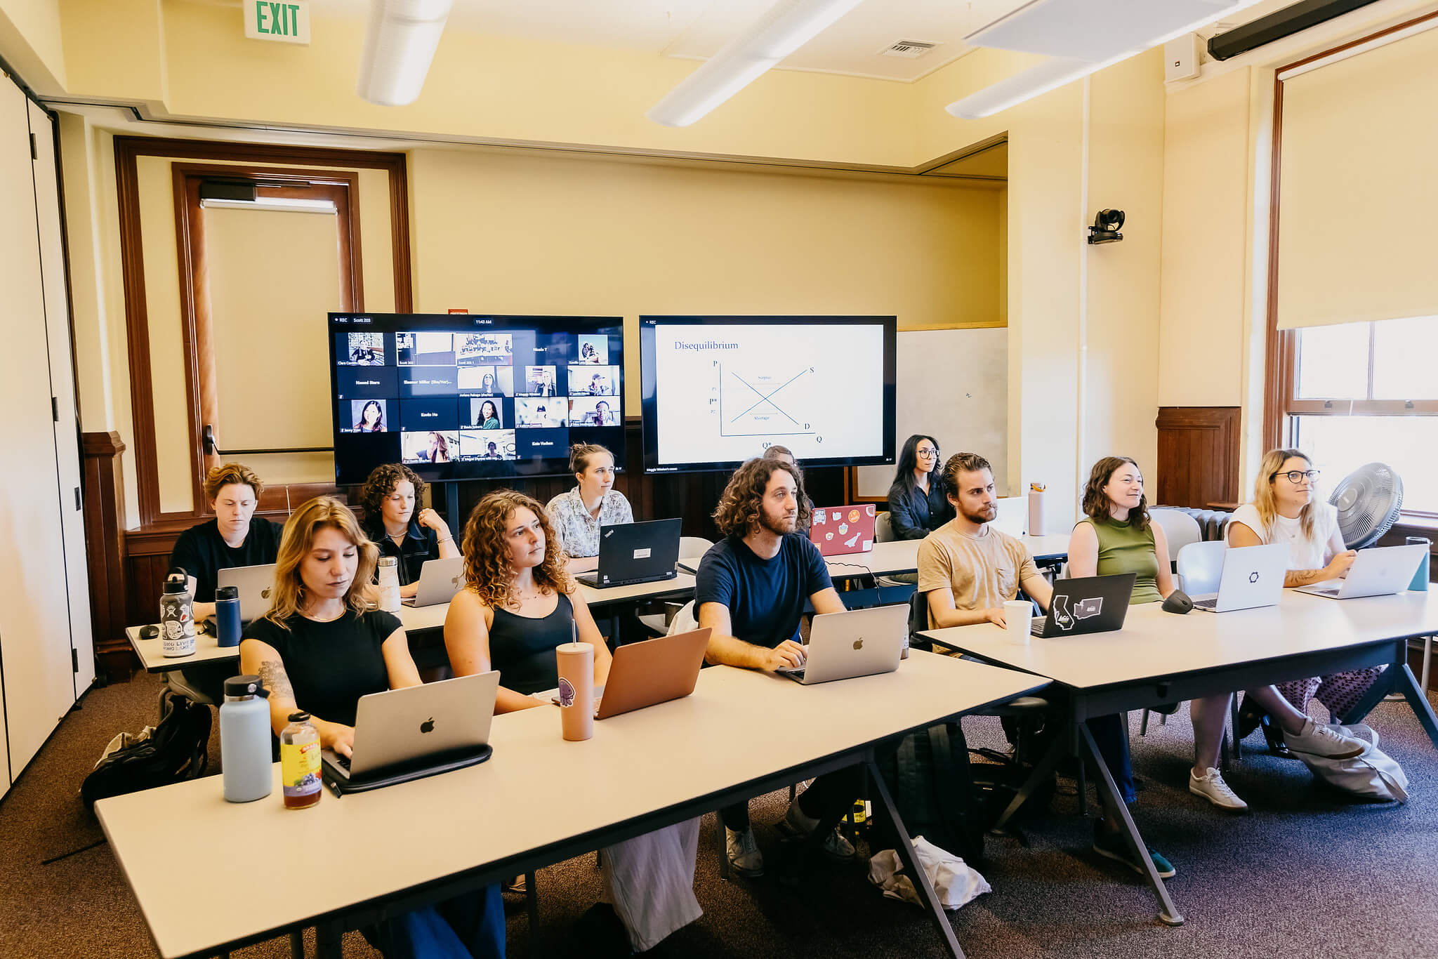
[[[1270,450],[1258,470],[1254,502],[1234,510],[1224,532],[1229,546],[1288,543],[1288,574],[1283,581],[1286,587],[1342,579],[1357,556],[1343,545],[1339,510],[1332,503],[1314,499],[1317,477],[1319,472],[1299,450]],[[1299,710],[1307,709],[1309,700],[1317,697],[1336,720],[1353,709],[1382,671],[1382,666],[1370,666],[1299,679],[1281,683],[1278,693]]]

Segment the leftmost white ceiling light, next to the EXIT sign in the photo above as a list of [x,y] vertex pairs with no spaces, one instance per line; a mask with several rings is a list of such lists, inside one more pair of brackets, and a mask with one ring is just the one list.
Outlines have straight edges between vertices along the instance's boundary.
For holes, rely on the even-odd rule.
[[372,0],[358,93],[380,106],[420,98],[453,0]]

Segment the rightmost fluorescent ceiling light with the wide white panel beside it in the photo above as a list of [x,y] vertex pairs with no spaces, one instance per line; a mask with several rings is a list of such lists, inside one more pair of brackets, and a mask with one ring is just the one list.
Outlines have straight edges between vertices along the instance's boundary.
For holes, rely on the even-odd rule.
[[1255,0],[1031,0],[971,33],[972,46],[1051,59],[945,109],[962,119],[991,116],[1136,53],[1192,33]]

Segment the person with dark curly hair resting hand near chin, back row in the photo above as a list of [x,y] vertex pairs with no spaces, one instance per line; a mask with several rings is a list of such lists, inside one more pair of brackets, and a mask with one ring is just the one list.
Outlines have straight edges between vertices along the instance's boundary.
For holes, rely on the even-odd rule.
[[364,535],[380,546],[381,556],[398,559],[401,597],[418,592],[426,559],[459,555],[449,525],[433,509],[418,506],[423,502],[424,480],[403,463],[374,467],[360,490]]

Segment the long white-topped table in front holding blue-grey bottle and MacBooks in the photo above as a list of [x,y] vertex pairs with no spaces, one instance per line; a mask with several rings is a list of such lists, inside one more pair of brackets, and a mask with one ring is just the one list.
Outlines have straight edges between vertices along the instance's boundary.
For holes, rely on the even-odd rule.
[[[227,804],[220,776],[210,776],[102,799],[95,814],[165,959],[305,926],[338,955],[339,929],[854,763],[870,769],[906,870],[922,878],[876,775],[876,746],[1045,684],[917,650],[896,673],[817,686],[713,667],[692,696],[598,722],[588,742],[561,739],[552,707],[498,716],[487,762],[342,799],[326,794],[312,809],[282,807],[276,766],[275,792],[257,802]],[[184,837],[183,845],[161,835]],[[255,851],[244,864],[210,870],[204,894],[177,889],[184,863],[230,861],[237,843]],[[928,880],[920,886],[962,958]]]

